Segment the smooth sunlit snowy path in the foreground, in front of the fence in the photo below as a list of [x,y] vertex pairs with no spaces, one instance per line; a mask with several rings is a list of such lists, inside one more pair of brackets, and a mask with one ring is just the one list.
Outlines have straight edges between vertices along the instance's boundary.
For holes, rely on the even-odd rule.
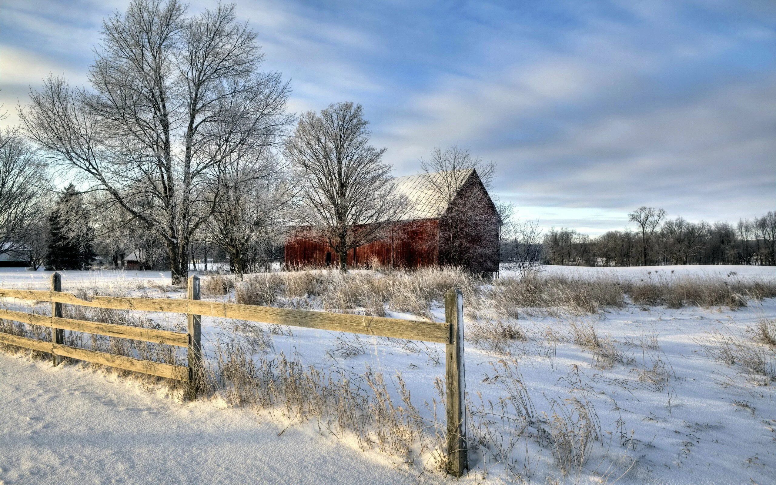
[[417,483],[309,427],[278,437],[281,429],[73,366],[0,354],[0,485]]

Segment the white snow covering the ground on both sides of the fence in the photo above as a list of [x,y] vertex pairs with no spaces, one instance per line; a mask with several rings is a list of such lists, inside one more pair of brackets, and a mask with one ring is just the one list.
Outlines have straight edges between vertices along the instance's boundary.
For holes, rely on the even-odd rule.
[[[747,266],[543,270],[634,281],[682,275],[776,280],[776,268]],[[47,288],[47,279],[47,272],[3,271],[0,287]],[[168,279],[167,272],[66,272],[63,283],[65,290],[114,286],[135,295],[182,297]],[[441,307],[432,312],[442,319]],[[501,347],[487,339],[466,342],[469,426],[490,448],[473,456],[464,482],[776,483],[776,382],[767,378],[776,372],[776,351],[746,334],[758,321],[776,319],[776,300],[752,300],[737,310],[627,304],[592,315],[529,313],[511,322],[527,341],[501,341]],[[482,324],[467,320],[467,332],[475,334]],[[598,346],[575,343],[575,328],[577,334],[594,329]],[[712,337],[716,331],[757,349],[765,374],[712,359],[708,352],[720,344]],[[218,340],[240,333],[230,322],[203,320],[211,351]],[[435,379],[444,375],[442,345],[303,328],[266,337],[271,348],[262,352],[295,355],[318,369],[359,374],[369,366],[386,379],[400,372],[415,406],[431,420],[424,402],[437,397]],[[338,352],[343,343],[362,353]],[[735,347],[735,339],[727,343]],[[224,409],[216,398],[182,403],[161,387],[148,392],[132,379],[91,369],[52,369],[0,356],[0,483],[452,481],[428,464],[406,466],[362,452],[352,437],[319,433],[314,421],[283,431],[287,423],[261,412]],[[394,394],[395,386],[390,379]],[[598,439],[589,441],[584,466],[561,473],[559,462],[573,458],[564,454],[564,443],[584,446],[591,435]]]

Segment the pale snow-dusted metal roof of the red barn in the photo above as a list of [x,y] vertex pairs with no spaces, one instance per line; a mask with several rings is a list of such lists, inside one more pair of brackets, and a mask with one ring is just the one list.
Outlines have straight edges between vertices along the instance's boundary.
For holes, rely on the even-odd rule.
[[458,192],[464,182],[469,179],[473,168],[460,171],[460,174],[451,176],[451,172],[440,171],[436,173],[422,173],[407,175],[393,179],[397,194],[410,200],[410,210],[398,220],[436,219],[442,217],[451,200],[449,196],[440,192],[437,187],[445,185],[449,181],[455,181],[457,187],[451,188]]

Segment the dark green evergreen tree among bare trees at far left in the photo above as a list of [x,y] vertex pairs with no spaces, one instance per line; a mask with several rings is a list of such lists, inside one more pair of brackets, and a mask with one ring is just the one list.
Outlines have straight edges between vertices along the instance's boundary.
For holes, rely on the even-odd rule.
[[94,230],[81,193],[73,184],[64,189],[49,216],[47,269],[85,269],[95,258]]

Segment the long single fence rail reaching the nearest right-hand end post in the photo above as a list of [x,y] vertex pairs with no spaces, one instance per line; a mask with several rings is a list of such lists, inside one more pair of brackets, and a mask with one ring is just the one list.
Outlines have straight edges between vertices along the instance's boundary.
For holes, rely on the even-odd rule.
[[381,337],[407,338],[446,344],[450,339],[449,326],[442,322],[400,320],[398,318],[367,317],[351,314],[332,314],[289,308],[257,307],[239,303],[189,300],[192,314],[207,317],[234,318],[265,324],[291,325],[320,330],[345,331]]

